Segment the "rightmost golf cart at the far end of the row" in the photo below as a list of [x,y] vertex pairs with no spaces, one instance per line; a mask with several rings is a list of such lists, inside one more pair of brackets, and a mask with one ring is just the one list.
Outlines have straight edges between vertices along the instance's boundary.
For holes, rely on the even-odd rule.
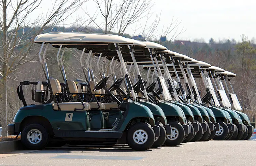
[[[217,77],[219,76],[219,77]],[[238,101],[238,98],[237,98],[237,95],[234,93],[234,90],[233,90],[233,87],[232,87],[232,84],[231,84],[231,77],[236,77],[237,75],[234,74],[234,73],[231,73],[231,72],[228,72],[228,71],[224,71],[224,72],[221,72],[221,73],[217,73],[215,75],[215,79],[218,80],[219,82],[219,85],[221,85],[220,87],[224,90],[224,87],[222,85],[222,81],[221,80],[224,80],[224,83],[225,83],[225,86],[226,86],[226,90],[228,92],[228,96],[229,96],[229,99],[230,99],[230,102],[232,104],[232,109],[234,109],[237,114],[239,115],[239,117],[241,118],[241,121],[242,123],[245,125],[245,132],[238,132],[238,136],[237,136],[237,139],[240,139],[240,140],[249,140],[253,134],[253,129],[254,127],[251,125],[250,123],[250,119],[248,118],[248,116],[243,113],[243,112],[240,112],[242,110],[241,108],[241,105]],[[228,82],[230,83],[230,87],[231,87],[231,90],[232,90],[232,93],[230,93],[230,90],[228,88],[228,85],[227,85],[227,82],[226,80],[228,80]],[[242,136],[242,137],[241,137]]]

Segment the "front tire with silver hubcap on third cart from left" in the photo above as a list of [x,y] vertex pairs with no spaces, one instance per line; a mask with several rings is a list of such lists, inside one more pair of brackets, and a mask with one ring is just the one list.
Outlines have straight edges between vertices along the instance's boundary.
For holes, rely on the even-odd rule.
[[177,121],[169,121],[169,125],[171,125],[172,134],[167,135],[167,139],[165,142],[166,146],[177,146],[182,143],[185,131],[180,122]]

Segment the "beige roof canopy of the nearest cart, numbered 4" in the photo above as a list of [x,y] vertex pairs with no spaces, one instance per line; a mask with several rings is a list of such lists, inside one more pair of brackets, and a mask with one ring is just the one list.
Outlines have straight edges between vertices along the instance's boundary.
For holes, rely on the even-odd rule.
[[133,41],[118,35],[96,34],[96,33],[66,33],[66,32],[50,32],[40,34],[34,39],[35,43],[66,43],[66,44],[133,44]]

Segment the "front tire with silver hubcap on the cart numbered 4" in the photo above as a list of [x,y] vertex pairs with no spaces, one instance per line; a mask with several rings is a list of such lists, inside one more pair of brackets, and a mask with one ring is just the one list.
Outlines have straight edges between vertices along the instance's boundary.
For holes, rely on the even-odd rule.
[[154,141],[154,130],[146,122],[136,123],[128,130],[127,143],[133,150],[145,151],[152,147]]

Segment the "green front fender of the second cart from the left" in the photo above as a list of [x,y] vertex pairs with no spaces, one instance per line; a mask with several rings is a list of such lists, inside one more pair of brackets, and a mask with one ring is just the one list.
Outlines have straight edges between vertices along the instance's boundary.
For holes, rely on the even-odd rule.
[[163,122],[161,121],[162,124],[164,125],[167,124],[165,113],[163,112],[161,107],[150,102],[140,102],[140,104],[147,106],[151,110],[154,116],[161,117],[161,119],[163,119],[162,120]]

